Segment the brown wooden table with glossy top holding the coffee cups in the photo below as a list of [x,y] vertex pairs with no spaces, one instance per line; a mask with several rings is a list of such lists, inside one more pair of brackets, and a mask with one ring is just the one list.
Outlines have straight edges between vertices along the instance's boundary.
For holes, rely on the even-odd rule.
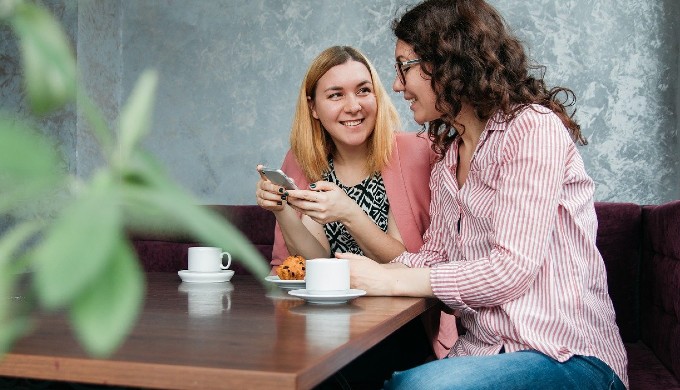
[[164,389],[309,389],[435,305],[405,297],[312,305],[264,283],[244,275],[182,283],[174,273],[149,273],[140,319],[112,357],[88,357],[65,313],[41,316],[35,332],[0,361],[0,376]]

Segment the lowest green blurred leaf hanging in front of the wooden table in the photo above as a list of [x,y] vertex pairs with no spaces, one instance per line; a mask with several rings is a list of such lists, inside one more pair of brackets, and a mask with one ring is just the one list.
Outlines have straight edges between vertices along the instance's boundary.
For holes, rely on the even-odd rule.
[[132,329],[144,299],[141,269],[127,242],[119,240],[108,266],[71,306],[71,323],[88,353],[106,357]]

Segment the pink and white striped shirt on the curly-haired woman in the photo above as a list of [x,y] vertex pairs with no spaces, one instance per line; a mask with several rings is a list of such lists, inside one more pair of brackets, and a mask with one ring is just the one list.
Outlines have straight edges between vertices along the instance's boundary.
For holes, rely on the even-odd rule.
[[569,133],[542,106],[481,134],[462,188],[454,143],[430,179],[431,224],[417,253],[467,334],[449,356],[533,349],[595,356],[628,386],[627,358],[595,247],[594,185]]

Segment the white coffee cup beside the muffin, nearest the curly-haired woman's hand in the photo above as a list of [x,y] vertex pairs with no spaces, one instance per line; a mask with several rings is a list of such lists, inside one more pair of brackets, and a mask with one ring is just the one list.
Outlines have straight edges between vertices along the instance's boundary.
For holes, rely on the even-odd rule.
[[310,259],[305,264],[305,288],[312,295],[336,295],[349,290],[349,260]]

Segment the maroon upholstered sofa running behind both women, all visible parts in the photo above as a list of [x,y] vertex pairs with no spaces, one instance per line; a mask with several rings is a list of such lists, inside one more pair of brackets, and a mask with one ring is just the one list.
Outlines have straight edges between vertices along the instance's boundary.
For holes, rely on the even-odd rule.
[[[258,206],[208,206],[271,258],[274,217]],[[680,390],[680,201],[595,204],[616,320],[628,351],[630,388]],[[186,268],[187,237],[136,235],[147,272]],[[236,259],[238,260],[238,259]],[[237,273],[247,272],[234,265]]]

